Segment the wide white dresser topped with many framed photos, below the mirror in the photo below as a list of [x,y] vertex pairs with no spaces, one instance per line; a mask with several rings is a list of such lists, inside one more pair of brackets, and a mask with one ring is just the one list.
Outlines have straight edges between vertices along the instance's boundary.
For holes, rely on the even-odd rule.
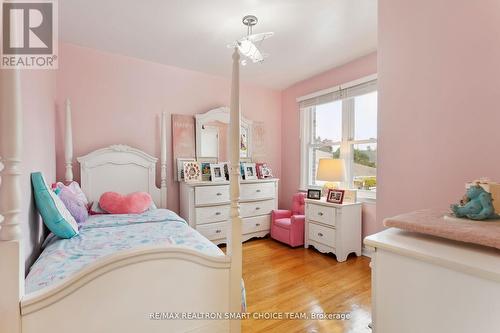
[[[243,241],[270,232],[271,211],[277,205],[277,178],[241,181]],[[181,217],[215,244],[226,243],[229,210],[229,182],[181,183]]]

